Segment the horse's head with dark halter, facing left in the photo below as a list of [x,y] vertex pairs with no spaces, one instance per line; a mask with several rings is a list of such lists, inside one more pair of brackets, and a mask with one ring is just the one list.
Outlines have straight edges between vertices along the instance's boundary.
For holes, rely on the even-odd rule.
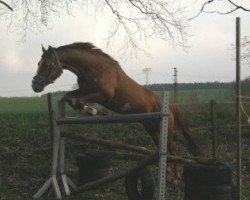
[[48,50],[46,50],[42,46],[42,50],[43,55],[38,63],[36,75],[32,80],[34,92],[42,92],[45,86],[53,83],[63,72],[55,49],[49,46]]

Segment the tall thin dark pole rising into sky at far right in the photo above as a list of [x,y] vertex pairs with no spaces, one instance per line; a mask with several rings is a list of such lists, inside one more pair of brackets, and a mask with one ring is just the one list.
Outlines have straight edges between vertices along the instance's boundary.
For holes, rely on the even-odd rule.
[[241,200],[241,42],[240,42],[240,18],[236,18],[236,132],[237,132],[237,200]]

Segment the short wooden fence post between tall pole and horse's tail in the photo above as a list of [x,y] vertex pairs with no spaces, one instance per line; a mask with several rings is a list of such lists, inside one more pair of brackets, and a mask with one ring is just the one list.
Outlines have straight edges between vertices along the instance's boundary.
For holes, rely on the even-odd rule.
[[212,136],[212,156],[213,159],[216,158],[216,149],[217,149],[217,135],[215,131],[215,101],[210,100],[210,115],[211,115],[211,136]]

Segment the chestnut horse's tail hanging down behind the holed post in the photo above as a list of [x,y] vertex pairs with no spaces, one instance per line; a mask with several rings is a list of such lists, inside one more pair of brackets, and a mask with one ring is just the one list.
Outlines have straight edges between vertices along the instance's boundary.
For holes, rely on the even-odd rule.
[[177,107],[171,106],[171,111],[173,112],[174,118],[175,118],[176,122],[178,123],[180,129],[182,130],[182,134],[183,134],[184,138],[187,141],[189,151],[194,156],[202,156],[203,151],[202,151],[201,147],[196,143],[196,141],[194,140],[194,138],[190,134],[187,119],[182,115],[182,113],[180,112],[180,110]]

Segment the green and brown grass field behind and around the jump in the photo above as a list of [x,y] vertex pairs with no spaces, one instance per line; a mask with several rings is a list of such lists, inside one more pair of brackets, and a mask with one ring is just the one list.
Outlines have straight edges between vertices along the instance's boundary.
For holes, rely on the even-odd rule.
[[[235,162],[235,134],[234,123],[234,91],[232,90],[189,90],[180,91],[178,98],[183,112],[188,116],[193,135],[200,141],[207,155],[211,152],[210,130],[196,129],[210,125],[210,100],[216,100],[216,123],[218,131],[218,157],[233,165]],[[171,96],[172,93],[170,94]],[[59,97],[53,97],[53,107]],[[223,103],[227,102],[227,103]],[[47,100],[46,97],[16,97],[0,98],[0,200],[32,199],[32,195],[44,183],[50,174],[51,149],[50,144]],[[246,110],[250,111],[246,107]],[[243,117],[243,121],[245,118]],[[81,132],[91,137],[103,139],[116,139],[137,145],[152,145],[140,125],[89,125],[67,127],[71,131]],[[243,193],[244,199],[250,199],[250,153],[249,153],[249,128],[243,128]],[[176,140],[180,147],[181,155],[186,155],[184,141],[179,134]],[[78,142],[68,141],[66,149],[67,174],[76,178],[75,157],[83,150],[91,151],[100,147]],[[125,163],[117,163],[117,166]],[[128,164],[128,163],[127,163]],[[127,165],[126,164],[126,165]],[[124,167],[124,166],[123,166]],[[105,186],[94,192],[86,192],[71,199],[126,199],[122,188],[123,182]],[[171,199],[182,199],[182,188],[176,189],[170,185]],[[52,191],[44,199],[54,199]]]

